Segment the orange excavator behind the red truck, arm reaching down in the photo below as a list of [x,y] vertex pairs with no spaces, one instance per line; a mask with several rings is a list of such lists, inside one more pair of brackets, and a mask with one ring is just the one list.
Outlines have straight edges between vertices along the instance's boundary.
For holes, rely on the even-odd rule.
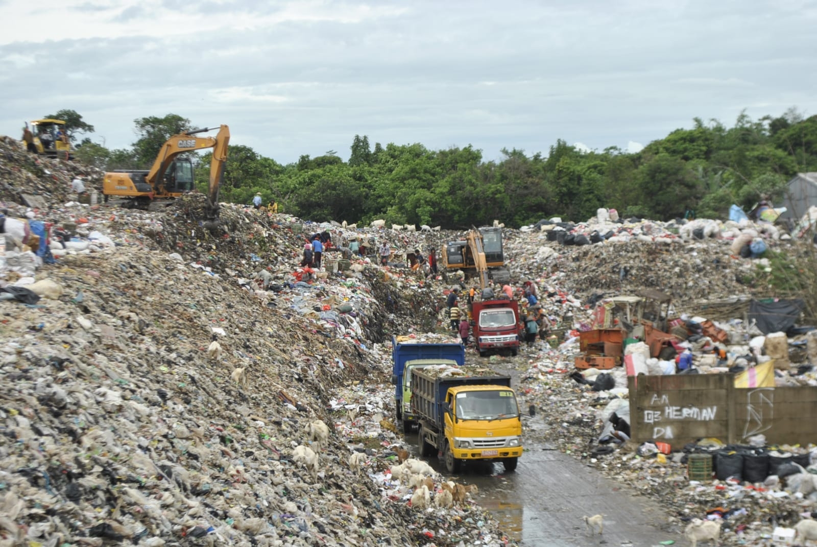
[[507,283],[511,272],[505,267],[502,253],[502,228],[483,226],[471,228],[465,240],[449,241],[443,247],[445,271],[462,270],[468,277],[480,280],[480,289],[495,283]]

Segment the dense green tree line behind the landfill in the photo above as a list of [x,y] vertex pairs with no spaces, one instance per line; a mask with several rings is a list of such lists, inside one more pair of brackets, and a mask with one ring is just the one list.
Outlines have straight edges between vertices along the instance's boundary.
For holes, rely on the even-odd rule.
[[[73,110],[60,113],[82,122]],[[177,114],[134,123],[130,149],[108,150],[86,137],[76,157],[106,169],[148,168],[167,137],[193,127]],[[209,161],[209,154],[199,156],[202,188]],[[368,136],[355,135],[348,161],[329,150],[282,165],[249,146],[231,145],[221,198],[248,204],[261,192],[280,211],[315,221],[384,218],[445,228],[493,219],[508,226],[553,216],[582,221],[600,207],[628,217],[669,219],[688,211],[722,217],[730,204],[748,208],[779,198],[803,171],[817,171],[817,116],[806,119],[792,108],[761,119],[742,113],[732,127],[696,118],[692,128],[676,129],[637,153],[615,146],[588,152],[558,140],[547,154],[503,149],[500,159],[486,161],[472,146],[372,146]]]

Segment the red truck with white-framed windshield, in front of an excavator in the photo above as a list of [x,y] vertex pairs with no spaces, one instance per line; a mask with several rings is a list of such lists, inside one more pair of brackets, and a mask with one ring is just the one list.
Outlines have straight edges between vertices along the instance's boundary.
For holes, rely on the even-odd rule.
[[519,352],[522,326],[516,300],[484,300],[473,303],[474,339],[480,356],[491,351]]

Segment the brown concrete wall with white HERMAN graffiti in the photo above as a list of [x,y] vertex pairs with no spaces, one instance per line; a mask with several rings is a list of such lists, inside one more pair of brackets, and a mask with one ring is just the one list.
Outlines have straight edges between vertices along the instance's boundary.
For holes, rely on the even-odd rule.
[[680,449],[702,437],[745,443],[817,442],[817,388],[734,388],[732,374],[629,379],[632,440]]

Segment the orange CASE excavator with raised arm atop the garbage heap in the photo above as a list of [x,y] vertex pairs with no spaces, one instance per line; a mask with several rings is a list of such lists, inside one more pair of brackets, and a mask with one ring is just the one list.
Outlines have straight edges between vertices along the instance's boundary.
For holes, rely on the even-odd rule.
[[105,173],[102,194],[105,202],[111,196],[123,198],[124,206],[149,208],[154,200],[177,198],[193,190],[193,162],[178,158],[184,152],[212,148],[210,184],[208,186],[207,219],[218,217],[218,191],[224,179],[227,146],[230,144],[230,128],[221,125],[216,137],[198,137],[199,133],[215,128],[196,129],[173,135],[162,145],[150,170],[118,169]]

